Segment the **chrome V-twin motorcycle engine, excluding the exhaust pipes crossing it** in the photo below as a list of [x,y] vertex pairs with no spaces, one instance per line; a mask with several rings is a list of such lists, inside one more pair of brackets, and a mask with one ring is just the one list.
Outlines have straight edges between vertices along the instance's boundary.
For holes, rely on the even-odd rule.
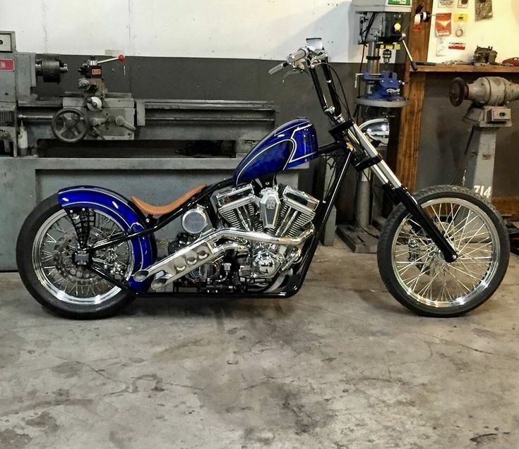
[[[239,228],[276,237],[297,237],[311,226],[318,199],[288,185],[263,187],[257,195],[252,184],[218,192],[213,206],[218,228]],[[184,218],[185,217],[185,218]],[[182,226],[186,233],[169,245],[169,253],[198,238],[208,219],[197,207],[186,212]],[[301,256],[298,247],[248,242],[248,251],[226,254],[184,276],[184,283],[210,291],[234,290],[238,285],[267,285],[278,273],[290,269]]]

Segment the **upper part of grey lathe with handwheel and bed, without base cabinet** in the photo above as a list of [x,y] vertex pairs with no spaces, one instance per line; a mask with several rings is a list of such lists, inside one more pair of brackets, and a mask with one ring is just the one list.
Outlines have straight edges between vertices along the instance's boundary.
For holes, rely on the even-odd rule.
[[[90,56],[78,68],[78,91],[40,98],[37,78],[59,83],[68,66],[59,55],[16,51],[15,39],[14,32],[0,32],[0,138],[12,156],[82,140],[227,141],[243,156],[275,124],[275,108],[266,102],[133,99],[131,93],[109,92],[102,68],[124,63],[123,55]],[[232,126],[223,130],[218,123]]]

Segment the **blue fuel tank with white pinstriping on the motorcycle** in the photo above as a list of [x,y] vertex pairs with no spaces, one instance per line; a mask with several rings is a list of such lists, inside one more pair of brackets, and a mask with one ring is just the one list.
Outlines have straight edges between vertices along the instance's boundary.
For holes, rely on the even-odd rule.
[[234,183],[248,183],[316,157],[316,128],[306,118],[297,118],[273,130],[244,157],[234,171]]

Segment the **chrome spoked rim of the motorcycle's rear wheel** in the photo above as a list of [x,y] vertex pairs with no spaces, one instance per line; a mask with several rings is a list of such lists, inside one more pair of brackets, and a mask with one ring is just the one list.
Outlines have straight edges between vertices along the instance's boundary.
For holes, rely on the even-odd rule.
[[[90,245],[123,231],[107,214],[90,209],[94,226],[90,228]],[[99,305],[121,291],[97,274],[72,262],[77,249],[76,230],[66,211],[49,217],[38,230],[32,244],[32,266],[41,285],[58,300],[73,305]],[[133,250],[129,242],[96,253],[96,264],[125,281],[133,271]]]

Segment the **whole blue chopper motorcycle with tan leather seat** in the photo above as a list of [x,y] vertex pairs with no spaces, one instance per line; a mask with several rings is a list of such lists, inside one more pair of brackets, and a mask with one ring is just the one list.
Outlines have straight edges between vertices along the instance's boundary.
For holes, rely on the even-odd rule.
[[[354,122],[321,39],[307,39],[269,73],[287,66],[309,72],[332,124],[332,143],[318,147],[314,125],[298,118],[261,140],[232,178],[163,206],[101,187],[60,190],[37,205],[18,237],[18,270],[31,295],[54,312],[83,319],[165,292],[290,297],[302,287],[347,168],[354,166],[371,170],[395,203],[381,230],[378,269],[396,300],[426,316],[458,316],[491,297],[509,257],[494,207],[452,185],[411,195]],[[276,173],[319,156],[333,170],[323,198],[276,182]],[[176,219],[184,232],[159,258],[154,233]],[[336,269],[347,276],[347,267]]]

